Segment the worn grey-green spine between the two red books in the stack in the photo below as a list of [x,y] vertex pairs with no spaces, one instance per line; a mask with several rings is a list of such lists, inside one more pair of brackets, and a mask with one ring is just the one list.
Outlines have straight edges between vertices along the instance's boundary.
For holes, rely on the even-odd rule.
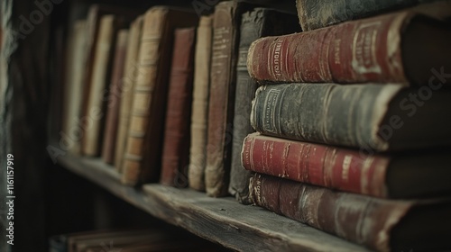
[[402,85],[282,84],[257,89],[251,112],[262,134],[354,148],[387,150],[378,135]]

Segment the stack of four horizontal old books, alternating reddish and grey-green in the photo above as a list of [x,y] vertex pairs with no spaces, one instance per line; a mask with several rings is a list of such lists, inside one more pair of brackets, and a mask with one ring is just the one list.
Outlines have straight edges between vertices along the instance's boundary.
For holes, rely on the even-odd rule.
[[248,51],[242,202],[375,250],[451,248],[449,25],[403,10],[302,28]]

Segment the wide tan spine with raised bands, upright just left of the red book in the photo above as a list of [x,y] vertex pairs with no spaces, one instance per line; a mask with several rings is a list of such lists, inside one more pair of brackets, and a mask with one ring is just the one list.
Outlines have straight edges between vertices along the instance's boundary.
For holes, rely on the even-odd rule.
[[[144,149],[145,138],[146,134],[148,134],[148,129],[151,128],[149,124],[152,117],[152,109],[154,109],[152,108],[152,94],[155,92],[155,84],[158,81],[157,72],[162,70],[159,69],[158,65],[162,54],[159,48],[167,14],[167,9],[152,8],[144,15],[143,34],[138,56],[139,66],[133,89],[132,112],[122,163],[122,182],[124,184],[137,184],[143,173],[143,158],[146,152]],[[161,123],[161,121],[153,123],[157,122]],[[151,133],[150,130],[149,133]],[[152,134],[160,133],[152,132]],[[159,145],[158,142],[153,144]],[[147,154],[149,156],[152,155],[151,153]]]

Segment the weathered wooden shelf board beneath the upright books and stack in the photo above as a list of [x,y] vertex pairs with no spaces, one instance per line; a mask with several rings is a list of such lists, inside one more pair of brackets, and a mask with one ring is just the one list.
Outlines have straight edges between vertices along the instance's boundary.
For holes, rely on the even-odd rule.
[[368,251],[232,197],[211,198],[161,184],[125,186],[115,169],[99,158],[66,156],[59,164],[161,220],[238,251]]

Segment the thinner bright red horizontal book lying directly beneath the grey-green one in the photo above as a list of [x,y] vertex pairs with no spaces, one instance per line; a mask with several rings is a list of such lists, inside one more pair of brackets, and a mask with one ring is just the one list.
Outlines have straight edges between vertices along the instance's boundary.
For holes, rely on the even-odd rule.
[[451,193],[449,150],[396,155],[249,134],[245,169],[339,191],[380,198],[418,198]]

